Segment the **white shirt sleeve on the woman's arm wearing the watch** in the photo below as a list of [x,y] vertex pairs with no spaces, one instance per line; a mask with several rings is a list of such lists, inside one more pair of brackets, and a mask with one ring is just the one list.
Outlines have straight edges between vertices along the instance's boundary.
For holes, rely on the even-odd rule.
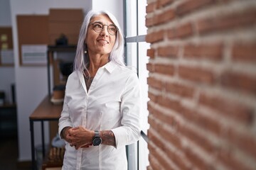
[[122,126],[112,129],[116,148],[137,142],[140,137],[141,90],[137,74],[127,79],[121,101]]

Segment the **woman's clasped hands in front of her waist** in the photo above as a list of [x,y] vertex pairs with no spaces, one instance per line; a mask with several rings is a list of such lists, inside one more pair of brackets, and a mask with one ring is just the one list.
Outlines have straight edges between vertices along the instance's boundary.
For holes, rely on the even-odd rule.
[[67,127],[63,129],[63,138],[75,149],[90,147],[95,132],[79,126],[76,128]]

